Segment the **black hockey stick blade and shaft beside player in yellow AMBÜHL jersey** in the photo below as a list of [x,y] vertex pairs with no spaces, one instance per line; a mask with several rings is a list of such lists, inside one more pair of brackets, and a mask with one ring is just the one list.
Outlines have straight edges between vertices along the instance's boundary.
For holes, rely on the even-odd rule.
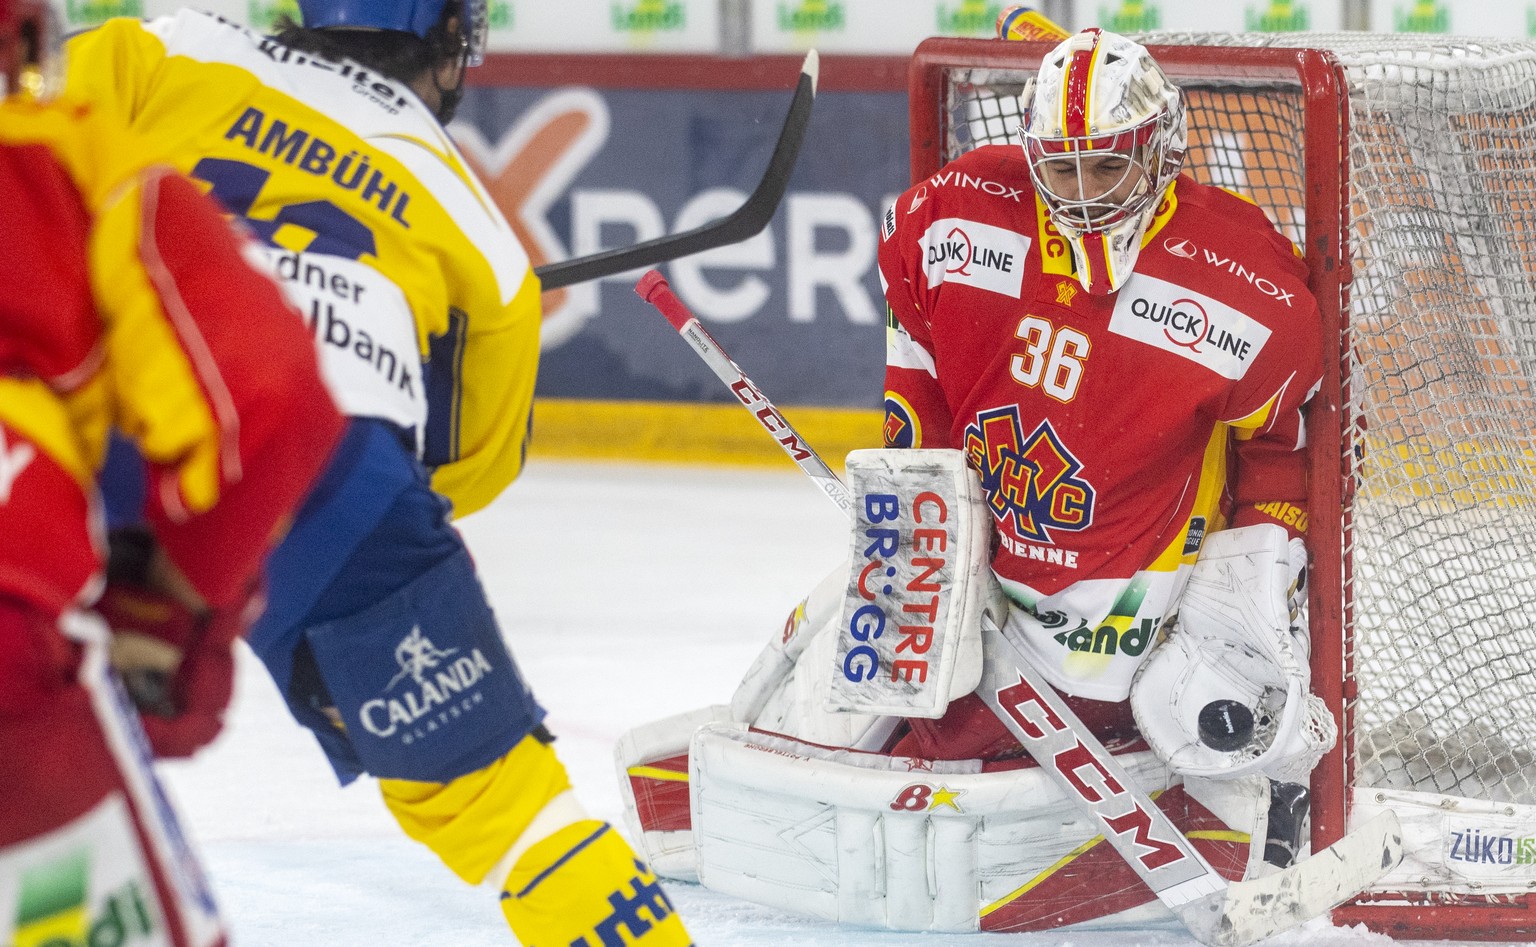
[[813,49],[805,55],[800,68],[800,81],[790,101],[790,114],[783,120],[783,130],[779,132],[779,143],[774,144],[773,157],[768,158],[768,170],[763,172],[751,196],[731,212],[730,216],[714,223],[641,241],[630,247],[604,250],[576,259],[562,259],[535,267],[533,273],[542,282],[542,289],[554,290],[574,282],[602,279],[625,270],[656,266],[679,256],[690,256],[740,243],[748,236],[756,236],[773,219],[783,200],[783,192],[790,186],[790,172],[800,153],[800,143],[805,140],[805,126],[811,121],[811,104],[816,101],[816,80],[820,71],[820,60]]

